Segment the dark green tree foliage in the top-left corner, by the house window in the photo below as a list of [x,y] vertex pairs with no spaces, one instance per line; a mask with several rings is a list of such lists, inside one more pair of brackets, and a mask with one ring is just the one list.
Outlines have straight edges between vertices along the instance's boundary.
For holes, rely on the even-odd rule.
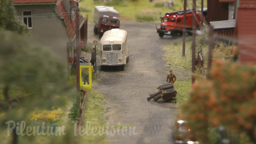
[[0,29],[18,32],[19,34],[28,33],[27,26],[17,19],[12,0],[0,0]]

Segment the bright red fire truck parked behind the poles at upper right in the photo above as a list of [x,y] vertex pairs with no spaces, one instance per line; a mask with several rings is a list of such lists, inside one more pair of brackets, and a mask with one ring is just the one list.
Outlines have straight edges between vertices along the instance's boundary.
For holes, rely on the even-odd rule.
[[[169,36],[178,36],[182,35],[183,31],[183,11],[165,13],[164,18],[160,17],[161,24],[160,27],[156,28],[157,33],[160,37],[164,35]],[[186,32],[188,35],[192,35],[192,21],[193,13],[192,10],[187,10],[186,14]],[[199,28],[199,25],[202,23],[201,14],[196,12],[196,27]]]

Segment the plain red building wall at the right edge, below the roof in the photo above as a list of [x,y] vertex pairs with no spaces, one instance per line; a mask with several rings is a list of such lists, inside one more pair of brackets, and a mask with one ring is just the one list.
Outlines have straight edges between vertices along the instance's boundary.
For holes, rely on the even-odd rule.
[[241,62],[256,63],[256,8],[239,8],[237,11],[237,38]]

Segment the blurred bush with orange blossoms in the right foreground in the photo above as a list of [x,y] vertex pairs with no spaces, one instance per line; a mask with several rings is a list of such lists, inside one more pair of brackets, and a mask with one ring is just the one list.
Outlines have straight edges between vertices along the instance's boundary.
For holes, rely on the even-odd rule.
[[220,124],[256,143],[256,67],[214,61],[210,78],[192,85],[180,118],[202,143],[209,143],[209,128]]

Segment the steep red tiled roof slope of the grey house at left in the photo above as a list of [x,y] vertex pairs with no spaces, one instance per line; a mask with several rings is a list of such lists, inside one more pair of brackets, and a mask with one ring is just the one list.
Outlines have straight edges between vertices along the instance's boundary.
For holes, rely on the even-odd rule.
[[[57,7],[57,10],[60,14],[60,17],[65,20],[65,23],[67,25],[66,32],[68,34],[68,38],[69,38],[69,40],[72,40],[72,38],[75,36],[75,33],[76,33],[76,29],[75,29],[76,28],[76,16],[74,17],[74,19],[71,22],[71,20],[68,17],[68,13],[65,9],[65,6],[61,2],[61,0],[57,0],[56,7]],[[80,14],[79,23],[81,23],[82,20],[83,20],[83,16],[82,16],[82,14]]]

